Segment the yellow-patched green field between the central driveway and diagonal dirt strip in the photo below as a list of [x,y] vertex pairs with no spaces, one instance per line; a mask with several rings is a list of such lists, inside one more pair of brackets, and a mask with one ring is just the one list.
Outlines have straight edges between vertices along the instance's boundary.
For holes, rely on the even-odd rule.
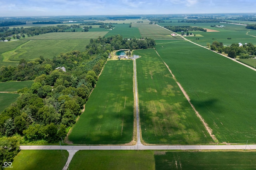
[[154,49],[137,50],[142,139],[150,144],[212,141],[196,113]]

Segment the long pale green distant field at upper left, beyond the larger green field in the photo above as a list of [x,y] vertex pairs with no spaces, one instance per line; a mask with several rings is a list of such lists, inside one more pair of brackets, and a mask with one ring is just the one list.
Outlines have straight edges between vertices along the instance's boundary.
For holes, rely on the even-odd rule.
[[28,37],[28,40],[70,40],[70,39],[95,39],[103,37],[107,32],[50,32],[39,36]]

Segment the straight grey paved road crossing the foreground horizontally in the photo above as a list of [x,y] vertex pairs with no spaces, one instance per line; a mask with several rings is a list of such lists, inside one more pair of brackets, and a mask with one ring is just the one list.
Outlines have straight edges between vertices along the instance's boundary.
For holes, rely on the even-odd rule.
[[20,146],[21,150],[255,150],[256,144],[248,145],[132,145],[132,146]]

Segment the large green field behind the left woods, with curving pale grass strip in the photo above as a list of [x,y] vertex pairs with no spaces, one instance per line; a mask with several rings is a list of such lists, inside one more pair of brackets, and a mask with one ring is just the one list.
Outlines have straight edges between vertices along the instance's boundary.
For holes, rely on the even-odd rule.
[[[47,38],[47,36],[46,36]],[[26,61],[32,61],[39,58],[41,55],[44,58],[52,58],[59,55],[60,53],[68,52],[71,50],[84,51],[85,46],[90,40],[30,40],[24,41],[23,44],[17,46],[16,48],[10,49],[2,53],[2,58],[4,61],[3,65],[18,64],[20,59],[25,59]]]

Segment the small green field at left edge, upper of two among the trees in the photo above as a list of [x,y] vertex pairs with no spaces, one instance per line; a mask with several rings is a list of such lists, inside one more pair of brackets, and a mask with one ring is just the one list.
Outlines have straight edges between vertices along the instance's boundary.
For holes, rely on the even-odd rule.
[[0,91],[14,92],[24,87],[30,88],[34,81],[8,81],[0,83]]

